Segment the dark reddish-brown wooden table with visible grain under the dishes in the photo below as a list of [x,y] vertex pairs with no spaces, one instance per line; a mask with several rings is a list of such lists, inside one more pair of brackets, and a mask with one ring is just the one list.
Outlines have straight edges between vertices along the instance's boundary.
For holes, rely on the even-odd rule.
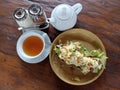
[[[108,60],[104,73],[93,83],[72,86],[52,71],[47,57],[39,64],[23,62],[16,42],[22,34],[12,17],[17,7],[39,2],[47,16],[56,5],[81,3],[76,28],[95,33],[105,45]],[[52,26],[45,30],[53,41],[61,32]],[[0,90],[120,90],[120,0],[0,0]]]

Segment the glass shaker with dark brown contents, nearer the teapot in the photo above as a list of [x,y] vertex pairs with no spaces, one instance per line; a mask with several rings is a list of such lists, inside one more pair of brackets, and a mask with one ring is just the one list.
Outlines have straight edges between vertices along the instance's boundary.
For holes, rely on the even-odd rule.
[[46,14],[39,4],[32,4],[28,8],[28,12],[35,26],[38,26],[41,29],[48,28],[49,24],[47,21]]

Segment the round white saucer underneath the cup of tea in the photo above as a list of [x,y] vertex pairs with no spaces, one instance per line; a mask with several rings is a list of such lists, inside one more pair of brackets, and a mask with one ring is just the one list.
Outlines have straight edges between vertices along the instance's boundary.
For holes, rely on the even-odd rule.
[[[24,34],[28,33],[28,32],[36,32],[36,33],[39,33],[39,34],[41,34],[41,35],[44,34],[45,49],[44,49],[44,51],[42,52],[42,54],[41,54],[40,56],[38,56],[37,58],[34,58],[34,59],[28,59],[28,58],[24,57],[24,56],[19,52],[19,48],[18,48],[21,37],[22,37]],[[30,31],[27,31],[27,32],[23,33],[23,34],[20,36],[20,38],[18,39],[18,41],[17,41],[17,47],[16,47],[16,49],[17,49],[17,53],[18,53],[19,57],[20,57],[23,61],[25,61],[25,62],[27,62],[27,63],[39,63],[39,62],[45,60],[45,58],[46,58],[46,57],[48,56],[48,54],[50,53],[50,46],[51,46],[51,41],[50,41],[49,36],[48,36],[45,32],[36,29],[36,30],[30,30]]]

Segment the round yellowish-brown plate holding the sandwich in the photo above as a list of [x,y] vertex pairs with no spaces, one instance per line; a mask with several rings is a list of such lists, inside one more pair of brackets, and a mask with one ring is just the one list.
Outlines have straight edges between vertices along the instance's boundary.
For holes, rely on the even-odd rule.
[[95,81],[102,74],[104,69],[100,70],[96,74],[89,73],[87,75],[83,75],[78,68],[73,68],[60,61],[53,50],[54,46],[58,44],[59,40],[61,40],[62,43],[66,42],[67,40],[80,41],[87,49],[100,49],[105,53],[105,55],[106,51],[102,41],[95,34],[88,30],[71,29],[63,32],[53,41],[49,55],[52,70],[61,80],[72,85],[86,85]]

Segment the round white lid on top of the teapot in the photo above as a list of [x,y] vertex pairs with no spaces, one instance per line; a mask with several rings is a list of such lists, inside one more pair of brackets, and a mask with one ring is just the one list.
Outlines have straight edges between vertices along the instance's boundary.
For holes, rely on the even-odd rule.
[[66,19],[69,19],[71,16],[72,16],[72,13],[71,13],[71,8],[69,7],[69,5],[67,4],[62,4],[62,5],[59,5],[57,8],[56,8],[56,16],[59,18],[59,19],[62,19],[62,20],[66,20]]

